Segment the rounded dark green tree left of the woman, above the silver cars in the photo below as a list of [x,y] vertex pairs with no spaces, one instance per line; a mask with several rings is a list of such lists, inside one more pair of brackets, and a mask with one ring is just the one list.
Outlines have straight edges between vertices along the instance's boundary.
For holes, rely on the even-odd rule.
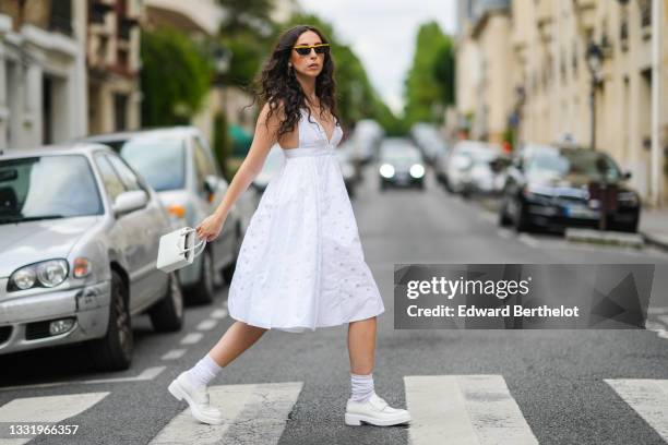
[[143,124],[189,123],[210,88],[210,59],[199,45],[170,28],[143,32],[141,55]]

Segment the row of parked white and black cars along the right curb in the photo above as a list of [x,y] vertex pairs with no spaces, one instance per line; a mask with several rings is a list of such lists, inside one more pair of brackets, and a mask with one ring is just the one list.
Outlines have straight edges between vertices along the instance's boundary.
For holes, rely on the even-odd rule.
[[606,153],[572,144],[525,144],[512,157],[494,144],[460,141],[437,158],[452,193],[499,199],[499,225],[517,231],[568,227],[637,231],[641,200]]

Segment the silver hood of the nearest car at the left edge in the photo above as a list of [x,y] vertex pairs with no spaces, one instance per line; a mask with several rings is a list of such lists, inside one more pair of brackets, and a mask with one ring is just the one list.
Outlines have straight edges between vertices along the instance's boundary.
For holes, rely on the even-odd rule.
[[0,278],[26,264],[65,258],[74,243],[102,216],[0,225]]

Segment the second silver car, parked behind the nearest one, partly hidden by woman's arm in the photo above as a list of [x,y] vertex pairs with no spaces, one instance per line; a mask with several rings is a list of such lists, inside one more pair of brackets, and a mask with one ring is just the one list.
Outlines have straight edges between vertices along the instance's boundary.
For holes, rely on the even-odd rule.
[[[195,227],[211,215],[225,196],[228,183],[223,178],[212,151],[194,127],[102,134],[85,141],[106,144],[121,155],[158,193],[172,218],[175,228]],[[228,214],[220,236],[206,245],[192,267],[179,270],[186,298],[191,302],[210,303],[214,285],[222,284],[218,270],[229,282],[243,233],[250,218],[239,200]]]

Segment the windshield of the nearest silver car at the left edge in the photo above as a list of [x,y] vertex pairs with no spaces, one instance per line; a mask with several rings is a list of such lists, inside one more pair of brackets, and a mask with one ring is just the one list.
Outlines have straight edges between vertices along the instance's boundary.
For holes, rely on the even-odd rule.
[[0,224],[103,213],[85,156],[0,159]]

